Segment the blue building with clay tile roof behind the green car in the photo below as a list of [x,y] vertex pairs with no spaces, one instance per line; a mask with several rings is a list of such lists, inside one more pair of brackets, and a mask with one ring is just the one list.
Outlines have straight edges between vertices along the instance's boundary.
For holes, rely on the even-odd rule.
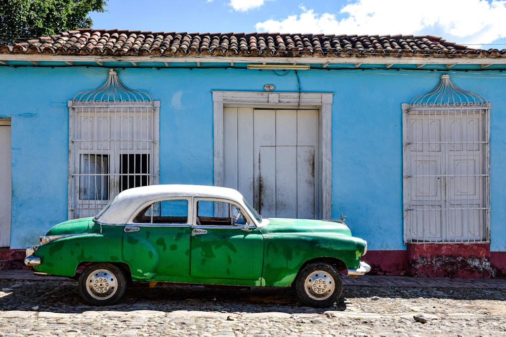
[[0,46],[0,260],[123,189],[191,183],[265,217],[344,214],[374,273],[503,277],[505,60],[402,35],[82,29]]

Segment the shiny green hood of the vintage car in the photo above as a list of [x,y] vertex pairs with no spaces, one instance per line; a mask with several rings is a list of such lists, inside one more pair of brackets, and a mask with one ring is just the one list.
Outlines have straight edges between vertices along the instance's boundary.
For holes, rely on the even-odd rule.
[[351,236],[351,230],[344,223],[325,220],[270,218],[268,225],[261,227],[265,234],[338,234]]

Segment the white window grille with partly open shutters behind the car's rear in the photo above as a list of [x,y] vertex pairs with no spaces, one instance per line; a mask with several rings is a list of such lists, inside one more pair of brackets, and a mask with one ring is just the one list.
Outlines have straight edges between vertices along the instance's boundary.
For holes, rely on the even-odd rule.
[[95,216],[120,191],[158,183],[159,101],[110,69],[69,101],[69,219]]

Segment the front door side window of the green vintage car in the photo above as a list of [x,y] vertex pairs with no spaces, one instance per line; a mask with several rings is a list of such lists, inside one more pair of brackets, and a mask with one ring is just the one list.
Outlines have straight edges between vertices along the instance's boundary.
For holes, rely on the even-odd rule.
[[235,205],[220,201],[197,201],[197,224],[234,226],[244,225],[246,220]]

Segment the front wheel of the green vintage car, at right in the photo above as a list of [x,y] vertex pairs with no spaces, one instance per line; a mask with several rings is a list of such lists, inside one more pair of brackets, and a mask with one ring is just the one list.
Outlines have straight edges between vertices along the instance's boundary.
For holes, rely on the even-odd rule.
[[325,262],[310,263],[301,269],[295,282],[297,295],[305,304],[315,308],[332,306],[343,292],[339,270]]

